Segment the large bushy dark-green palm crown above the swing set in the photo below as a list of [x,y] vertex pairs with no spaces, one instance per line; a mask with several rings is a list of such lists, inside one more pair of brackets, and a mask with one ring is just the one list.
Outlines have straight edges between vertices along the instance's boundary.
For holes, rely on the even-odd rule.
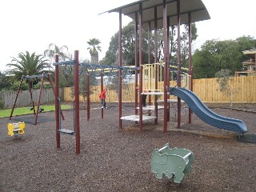
[[46,72],[46,66],[48,65],[48,60],[42,55],[37,55],[35,53],[31,54],[26,51],[25,53],[19,53],[18,58],[13,58],[11,62],[6,66],[11,67],[10,70],[6,70],[6,74],[14,75],[14,77],[19,80],[22,75],[34,75],[42,74]]

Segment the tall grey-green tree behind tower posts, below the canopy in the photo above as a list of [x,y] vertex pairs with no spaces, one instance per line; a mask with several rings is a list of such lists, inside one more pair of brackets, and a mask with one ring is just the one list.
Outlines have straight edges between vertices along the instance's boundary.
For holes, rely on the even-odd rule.
[[[170,60],[177,61],[177,26],[170,26]],[[118,34],[114,34],[111,38],[109,50],[106,51],[105,58],[101,63],[106,65],[118,64]],[[197,38],[197,28],[192,24],[192,40]],[[157,61],[163,59],[163,30],[157,30],[158,41],[158,55]],[[154,62],[154,32],[148,39],[148,32],[142,32],[142,62],[149,63],[148,61],[148,44],[150,43],[150,61]],[[186,63],[188,55],[188,26],[185,26],[185,32],[182,33],[182,64]],[[127,66],[134,66],[135,61],[135,22],[130,22],[127,26],[122,28],[122,64]]]

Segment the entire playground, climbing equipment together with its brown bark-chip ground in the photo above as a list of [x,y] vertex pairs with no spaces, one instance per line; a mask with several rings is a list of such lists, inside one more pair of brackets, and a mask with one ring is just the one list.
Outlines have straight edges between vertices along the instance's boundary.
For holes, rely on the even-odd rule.
[[[223,105],[222,108],[212,104],[206,107],[193,93],[190,40],[188,73],[182,71],[180,47],[177,62],[171,62],[169,46],[164,46],[163,62],[157,61],[156,36],[154,63],[150,58],[149,64],[142,63],[142,43],[138,38],[142,37],[142,28],[148,30],[148,35],[151,35],[151,30],[162,28],[163,42],[167,45],[170,38],[166,31],[170,26],[179,27],[187,23],[191,32],[191,22],[210,19],[203,3],[162,1],[159,4],[158,1],[139,1],[107,12],[119,13],[120,32],[122,14],[138,23],[135,26],[138,31],[135,35],[135,45],[138,46],[135,55],[138,58],[135,57],[134,66],[122,66],[121,35],[118,37],[118,66],[79,63],[78,50],[74,51],[74,60],[71,61],[59,62],[56,54],[53,63],[55,83],[52,86],[56,113],[42,111],[38,115],[41,94],[38,96],[35,112],[30,91],[34,117],[31,115],[30,122],[28,117],[23,117],[26,128],[22,123],[17,125],[15,118],[11,119],[18,94],[10,118],[1,119],[0,191],[253,191],[256,186],[255,104],[239,105],[232,110],[223,108]],[[191,33],[189,36],[191,38]],[[180,43],[178,29],[179,46]],[[148,48],[150,53],[150,46]],[[74,102],[69,105],[74,110],[62,110],[60,107],[58,88],[61,68],[64,68],[66,74],[71,73],[67,69],[73,69]],[[103,75],[118,77],[116,106],[103,109],[104,106],[97,108],[90,105],[90,91],[86,91],[87,108],[83,110],[82,102],[79,102],[79,77],[86,77],[86,90],[90,90],[89,76],[92,73],[101,78],[101,92],[104,88]],[[133,73],[136,91],[134,103],[128,106],[122,102],[122,80]],[[177,79],[174,81],[175,85],[171,85],[174,73],[177,74]],[[183,74],[186,74],[186,78]],[[45,75],[23,78],[42,78],[42,91]],[[49,76],[47,77],[50,78]],[[186,82],[185,85],[182,82]],[[143,102],[145,95],[148,95],[149,105]],[[161,100],[158,99],[160,95]],[[105,96],[103,99],[105,100]],[[176,109],[171,102],[176,103]],[[182,102],[187,106],[184,107]],[[94,110],[90,110],[91,108]],[[22,116],[18,118],[22,121]],[[10,125],[8,129],[15,137],[7,135],[6,125],[10,121],[15,126]],[[11,133],[12,130],[15,133]],[[246,138],[247,142],[242,142]],[[173,164],[179,176],[184,172],[188,173],[181,183],[178,182],[180,185],[175,182],[176,170],[172,172],[173,170],[158,168],[169,165],[169,162],[159,160],[157,154],[158,151],[169,151],[167,143],[171,148],[177,147],[187,152],[182,159],[171,154],[174,150],[170,152],[173,156],[168,154],[168,159],[176,158]],[[174,182],[170,178],[152,173],[150,164],[153,151],[156,151],[154,159],[158,161],[154,162],[155,170],[163,170],[165,173],[169,171],[166,175],[169,174]],[[182,161],[178,162],[177,159]],[[189,164],[186,165],[186,171],[180,166],[183,162]]]

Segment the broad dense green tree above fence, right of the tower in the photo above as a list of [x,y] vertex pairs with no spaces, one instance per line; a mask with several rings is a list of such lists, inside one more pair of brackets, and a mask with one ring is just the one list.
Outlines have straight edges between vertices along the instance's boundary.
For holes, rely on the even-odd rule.
[[194,78],[214,78],[214,74],[222,69],[229,69],[234,74],[235,70],[243,68],[245,55],[242,50],[255,47],[256,40],[250,36],[236,40],[206,41],[201,50],[196,50],[193,55]]

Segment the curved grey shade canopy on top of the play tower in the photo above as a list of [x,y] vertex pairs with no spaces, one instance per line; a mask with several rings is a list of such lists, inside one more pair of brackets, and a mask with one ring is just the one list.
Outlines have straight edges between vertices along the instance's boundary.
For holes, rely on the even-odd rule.
[[[154,13],[157,9],[158,29],[163,26],[163,0],[140,0],[132,2],[126,6],[119,6],[113,10],[104,13],[113,13],[121,10],[122,14],[135,20],[135,14],[139,11],[139,5],[142,4],[142,27],[144,30],[154,30]],[[189,13],[191,22],[199,22],[210,19],[210,15],[201,0],[180,0],[180,21],[181,24],[189,22]],[[169,25],[177,26],[177,0],[166,0],[166,14],[170,18]],[[150,26],[150,28],[149,28]]]

